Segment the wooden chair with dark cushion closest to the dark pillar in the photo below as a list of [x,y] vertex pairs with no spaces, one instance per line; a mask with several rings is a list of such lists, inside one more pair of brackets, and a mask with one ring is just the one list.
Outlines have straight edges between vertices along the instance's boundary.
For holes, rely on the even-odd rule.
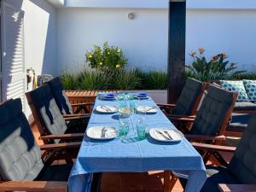
[[177,104],[158,104],[166,115],[195,115],[207,89],[207,83],[196,79],[187,79]]

